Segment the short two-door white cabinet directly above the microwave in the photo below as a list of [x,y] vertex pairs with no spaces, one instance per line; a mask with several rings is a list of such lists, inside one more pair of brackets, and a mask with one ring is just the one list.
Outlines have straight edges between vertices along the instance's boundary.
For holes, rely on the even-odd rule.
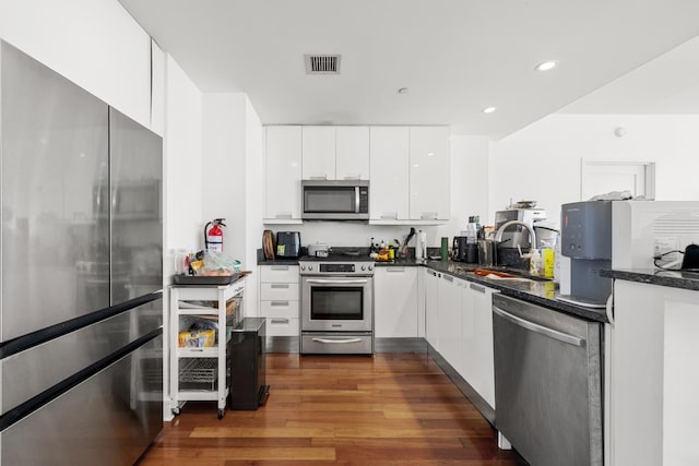
[[368,180],[368,127],[303,127],[305,180]]

